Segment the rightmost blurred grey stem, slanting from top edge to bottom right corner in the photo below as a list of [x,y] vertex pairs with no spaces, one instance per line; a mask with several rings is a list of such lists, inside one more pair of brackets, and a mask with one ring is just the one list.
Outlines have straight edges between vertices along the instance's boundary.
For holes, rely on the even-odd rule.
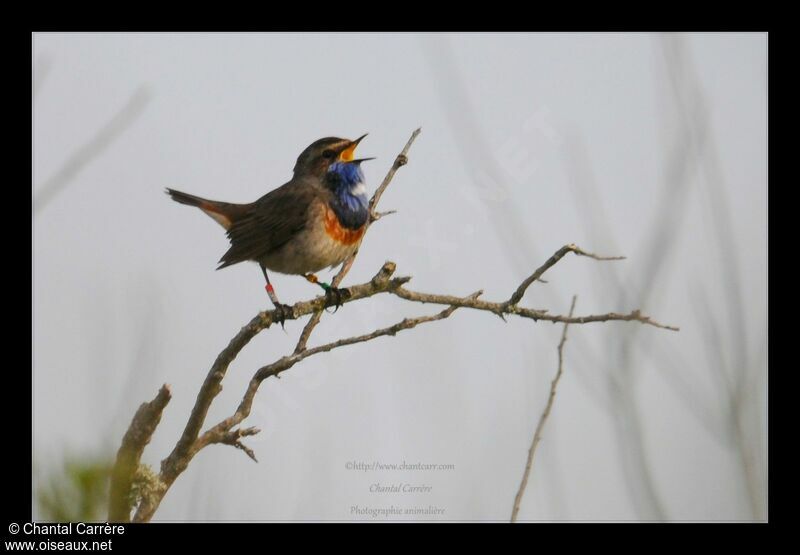
[[[761,426],[751,425],[754,420],[748,414],[753,395],[753,388],[749,385],[754,377],[757,379],[763,374],[760,372],[761,360],[752,357],[749,351],[754,333],[752,322],[744,309],[739,249],[727,192],[729,186],[719,161],[708,101],[686,41],[681,35],[665,35],[661,38],[661,45],[675,102],[691,137],[687,144],[694,150],[694,159],[704,185],[699,197],[705,212],[710,214],[716,242],[716,248],[709,255],[716,255],[722,267],[721,282],[727,314],[714,311],[712,316],[709,296],[695,289],[698,293],[695,298],[704,299],[701,304],[695,304],[700,324],[698,327],[707,334],[705,348],[708,351],[706,360],[709,371],[718,374],[720,381],[727,384],[719,389],[724,398],[724,414],[728,415],[726,433],[734,437],[752,517],[763,520],[766,518],[766,480],[761,461],[756,455],[761,450]],[[721,339],[723,334],[726,336],[724,344]],[[730,362],[726,360],[725,352],[732,354]]]

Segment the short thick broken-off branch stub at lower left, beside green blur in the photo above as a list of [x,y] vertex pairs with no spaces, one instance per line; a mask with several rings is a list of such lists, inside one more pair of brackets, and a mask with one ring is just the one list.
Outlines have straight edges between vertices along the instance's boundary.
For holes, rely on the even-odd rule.
[[111,470],[109,521],[130,521],[132,508],[130,493],[133,477],[139,468],[144,448],[153,437],[153,432],[161,421],[161,413],[164,412],[164,407],[167,406],[171,397],[169,386],[164,384],[158,390],[155,398],[148,403],[142,403],[139,410],[133,415],[128,431],[122,438],[122,445],[117,451],[114,468]]

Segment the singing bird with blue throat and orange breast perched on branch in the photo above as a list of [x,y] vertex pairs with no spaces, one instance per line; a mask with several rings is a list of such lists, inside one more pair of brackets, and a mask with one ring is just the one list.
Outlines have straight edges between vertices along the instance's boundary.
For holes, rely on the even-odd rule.
[[343,263],[359,247],[370,219],[361,164],[355,158],[366,137],[325,137],[298,156],[292,178],[255,202],[236,204],[208,200],[167,188],[175,202],[195,206],[227,231],[230,248],[217,270],[245,261],[258,263],[276,320],[283,325],[291,306],[281,303],[267,270],[301,275],[322,287],[341,305],[342,293],[320,281],[316,272]]

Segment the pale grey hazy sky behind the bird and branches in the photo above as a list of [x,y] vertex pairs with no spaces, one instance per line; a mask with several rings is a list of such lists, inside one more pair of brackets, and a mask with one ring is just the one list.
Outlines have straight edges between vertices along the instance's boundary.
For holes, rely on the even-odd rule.
[[[763,515],[765,34],[33,41],[34,196],[135,91],[147,99],[35,214],[37,472],[65,453],[115,452],[136,407],[169,383],[173,400],[144,455],[157,468],[216,354],[270,306],[255,265],[214,271],[224,233],[164,187],[249,202],[288,180],[314,140],[369,132],[359,153],[377,157],[365,165],[372,191],[421,126],[382,200],[398,212],[370,230],[346,283],[393,260],[417,290],[500,300],[574,242],[628,259],[566,258],[523,304],[564,313],[577,294],[578,314],[642,308],[681,327],[570,329],[520,519]],[[295,276],[273,283],[284,302],[317,294]],[[349,304],[324,316],[312,343],[433,310],[385,297]],[[291,350],[302,325],[268,330],[241,353],[208,424],[235,410],[252,373]],[[309,359],[256,398],[246,423],[262,429],[248,442],[259,464],[207,449],[156,519],[372,520],[353,507],[432,505],[442,520],[507,520],[560,331],[463,310]],[[738,435],[726,403],[736,383]],[[345,468],[403,460],[455,468]],[[371,493],[376,483],[432,490]]]

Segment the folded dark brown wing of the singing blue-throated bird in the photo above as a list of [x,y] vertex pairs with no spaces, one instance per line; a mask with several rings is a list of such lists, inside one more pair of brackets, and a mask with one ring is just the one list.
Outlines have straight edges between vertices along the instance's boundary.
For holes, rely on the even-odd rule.
[[282,247],[305,229],[309,208],[319,194],[313,186],[290,181],[251,204],[228,229],[231,248],[217,269],[261,260]]

